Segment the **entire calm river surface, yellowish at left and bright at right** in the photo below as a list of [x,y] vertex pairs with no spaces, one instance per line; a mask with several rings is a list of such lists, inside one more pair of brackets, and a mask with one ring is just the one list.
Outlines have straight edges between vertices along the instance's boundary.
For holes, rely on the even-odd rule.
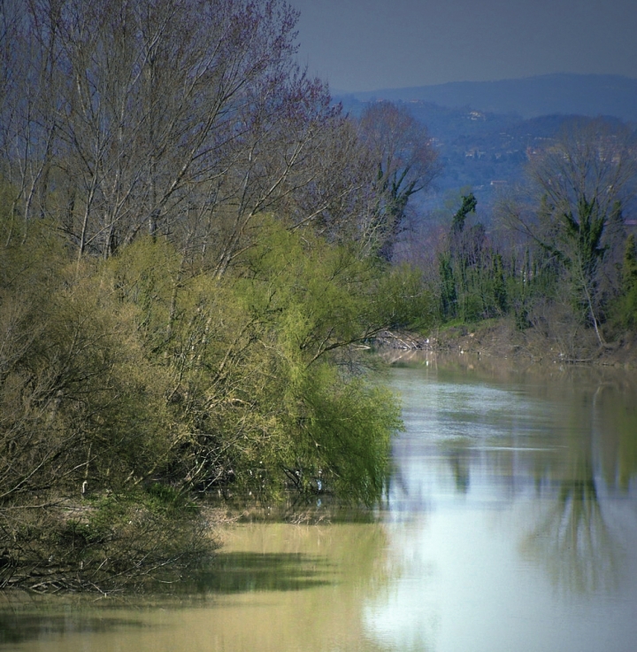
[[170,597],[0,597],[0,651],[633,652],[634,374],[465,358],[391,370],[373,514],[236,524]]

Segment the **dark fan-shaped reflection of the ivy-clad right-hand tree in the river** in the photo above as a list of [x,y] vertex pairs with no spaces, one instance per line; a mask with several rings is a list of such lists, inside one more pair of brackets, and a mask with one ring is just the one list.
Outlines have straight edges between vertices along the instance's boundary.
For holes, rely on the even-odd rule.
[[564,470],[549,470],[556,501],[522,547],[547,565],[556,586],[588,594],[618,585],[622,548],[604,518],[598,486],[629,493],[637,473],[637,408],[625,376],[596,378],[583,393],[590,409],[566,413]]

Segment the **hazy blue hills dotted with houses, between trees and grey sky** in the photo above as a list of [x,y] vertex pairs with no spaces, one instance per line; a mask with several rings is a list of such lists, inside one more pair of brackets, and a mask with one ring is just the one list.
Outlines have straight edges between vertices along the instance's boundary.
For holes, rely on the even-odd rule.
[[421,207],[443,213],[461,189],[471,189],[489,213],[498,194],[521,180],[529,152],[555,138],[574,115],[637,125],[637,79],[612,75],[454,82],[335,95],[334,100],[355,116],[369,102],[390,100],[426,125],[441,155],[442,174],[421,198]]

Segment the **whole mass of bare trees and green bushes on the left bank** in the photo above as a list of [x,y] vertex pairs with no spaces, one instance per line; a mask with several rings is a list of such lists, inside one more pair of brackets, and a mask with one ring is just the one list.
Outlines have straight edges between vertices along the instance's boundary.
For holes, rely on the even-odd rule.
[[194,490],[380,497],[398,410],[354,344],[403,299],[296,19],[0,0],[0,588],[196,552]]

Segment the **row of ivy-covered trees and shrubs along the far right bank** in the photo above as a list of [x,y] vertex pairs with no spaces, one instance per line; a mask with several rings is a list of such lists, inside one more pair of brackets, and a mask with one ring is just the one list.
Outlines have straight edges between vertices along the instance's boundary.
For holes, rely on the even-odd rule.
[[426,234],[425,255],[407,249],[426,272],[439,323],[506,318],[571,360],[595,358],[634,330],[637,252],[626,220],[636,160],[630,128],[573,119],[531,153],[525,183],[487,220],[467,192],[437,241]]

